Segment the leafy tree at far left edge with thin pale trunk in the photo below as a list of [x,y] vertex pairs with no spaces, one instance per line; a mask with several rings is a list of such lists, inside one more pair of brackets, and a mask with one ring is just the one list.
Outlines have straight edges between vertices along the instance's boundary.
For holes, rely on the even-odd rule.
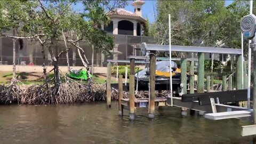
[[[30,39],[37,37],[42,34],[35,36],[24,37],[22,33],[22,24],[26,21],[28,13],[31,9],[34,9],[35,5],[31,1],[1,1],[0,2],[0,34],[1,36],[11,37],[13,40],[13,78],[12,84],[15,82],[16,74],[16,52],[15,43],[18,40],[20,49],[23,47],[22,39]],[[12,31],[12,35],[4,34],[6,31]]]

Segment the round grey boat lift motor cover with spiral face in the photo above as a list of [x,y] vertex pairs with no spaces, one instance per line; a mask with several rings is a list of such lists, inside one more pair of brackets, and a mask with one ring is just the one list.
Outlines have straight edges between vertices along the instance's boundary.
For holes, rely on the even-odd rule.
[[245,15],[241,20],[241,29],[244,38],[252,39],[255,36],[256,16],[254,14]]

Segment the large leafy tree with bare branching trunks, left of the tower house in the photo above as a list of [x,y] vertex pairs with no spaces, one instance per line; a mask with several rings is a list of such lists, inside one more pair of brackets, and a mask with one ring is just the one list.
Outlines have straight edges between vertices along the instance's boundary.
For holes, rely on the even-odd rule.
[[[67,43],[78,49],[84,66],[89,62],[85,57],[84,50],[78,45],[78,42],[93,44],[97,51],[108,52],[113,49],[113,37],[98,28],[101,23],[108,23],[107,11],[114,11],[117,7],[126,4],[125,1],[83,1],[84,12],[77,13],[71,5],[79,1],[34,1],[37,8],[29,12],[28,22],[25,23],[24,31],[28,35],[39,33],[43,36],[37,36],[35,39],[42,45],[44,51],[45,42],[50,52],[52,65],[54,66],[54,85],[55,94],[59,93],[61,84],[59,72],[59,57],[70,50]],[[42,40],[44,39],[44,40]],[[59,41],[65,42],[65,49],[57,46]],[[82,51],[82,53],[81,53]],[[82,54],[84,57],[82,57]],[[85,61],[84,61],[85,59]]]

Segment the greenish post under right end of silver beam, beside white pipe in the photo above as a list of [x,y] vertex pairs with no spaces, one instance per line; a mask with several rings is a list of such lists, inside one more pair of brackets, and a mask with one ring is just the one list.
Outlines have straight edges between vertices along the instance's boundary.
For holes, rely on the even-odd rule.
[[236,57],[236,90],[242,90],[242,55]]

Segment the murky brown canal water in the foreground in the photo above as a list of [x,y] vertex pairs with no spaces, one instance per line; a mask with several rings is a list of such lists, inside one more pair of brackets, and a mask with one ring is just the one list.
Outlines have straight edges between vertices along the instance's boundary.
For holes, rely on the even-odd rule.
[[128,111],[118,116],[118,105],[86,103],[58,106],[0,106],[0,143],[252,143],[241,137],[238,119],[211,121],[182,118],[180,108],[138,109],[130,122]]

